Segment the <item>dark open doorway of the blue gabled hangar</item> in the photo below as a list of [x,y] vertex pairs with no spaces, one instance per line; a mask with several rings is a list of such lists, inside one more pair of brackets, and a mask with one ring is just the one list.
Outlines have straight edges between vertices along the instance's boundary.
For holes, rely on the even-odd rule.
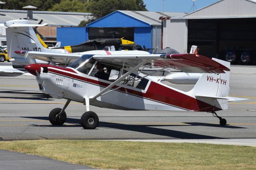
[[[111,33],[112,32],[112,33]],[[123,38],[134,41],[134,28],[88,28],[89,40],[97,38]]]

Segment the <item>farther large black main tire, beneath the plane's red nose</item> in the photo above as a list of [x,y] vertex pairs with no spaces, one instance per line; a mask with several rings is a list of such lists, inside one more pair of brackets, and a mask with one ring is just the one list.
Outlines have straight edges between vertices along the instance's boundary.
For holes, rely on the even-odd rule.
[[52,111],[49,114],[49,121],[52,123],[52,125],[63,125],[66,122],[67,115],[66,112],[63,111],[61,116],[58,118],[57,115],[61,112],[62,109],[55,108],[52,109]]

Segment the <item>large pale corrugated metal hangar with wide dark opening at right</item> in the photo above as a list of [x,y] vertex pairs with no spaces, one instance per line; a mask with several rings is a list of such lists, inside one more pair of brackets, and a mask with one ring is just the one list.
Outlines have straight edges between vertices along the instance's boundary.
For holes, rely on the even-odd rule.
[[[250,53],[255,64],[256,0],[220,0],[180,18],[164,20],[163,45],[184,53],[198,45],[199,53],[225,59],[235,53]],[[233,51],[233,52],[232,52]]]

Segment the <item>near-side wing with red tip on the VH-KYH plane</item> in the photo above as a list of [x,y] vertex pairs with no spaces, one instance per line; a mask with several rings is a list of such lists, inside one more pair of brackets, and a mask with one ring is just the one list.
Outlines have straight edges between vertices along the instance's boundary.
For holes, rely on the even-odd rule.
[[186,73],[225,73],[224,65],[198,54],[149,54],[149,55],[94,55],[94,59],[106,63],[135,67],[141,62],[153,67],[174,67]]

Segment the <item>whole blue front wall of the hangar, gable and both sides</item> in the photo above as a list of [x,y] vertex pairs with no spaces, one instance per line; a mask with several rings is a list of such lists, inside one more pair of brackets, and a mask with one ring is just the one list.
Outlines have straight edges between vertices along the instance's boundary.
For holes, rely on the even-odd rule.
[[61,46],[77,45],[88,40],[88,28],[134,27],[134,42],[152,48],[152,28],[150,24],[126,15],[120,11],[112,12],[85,27],[57,28],[57,41]]

